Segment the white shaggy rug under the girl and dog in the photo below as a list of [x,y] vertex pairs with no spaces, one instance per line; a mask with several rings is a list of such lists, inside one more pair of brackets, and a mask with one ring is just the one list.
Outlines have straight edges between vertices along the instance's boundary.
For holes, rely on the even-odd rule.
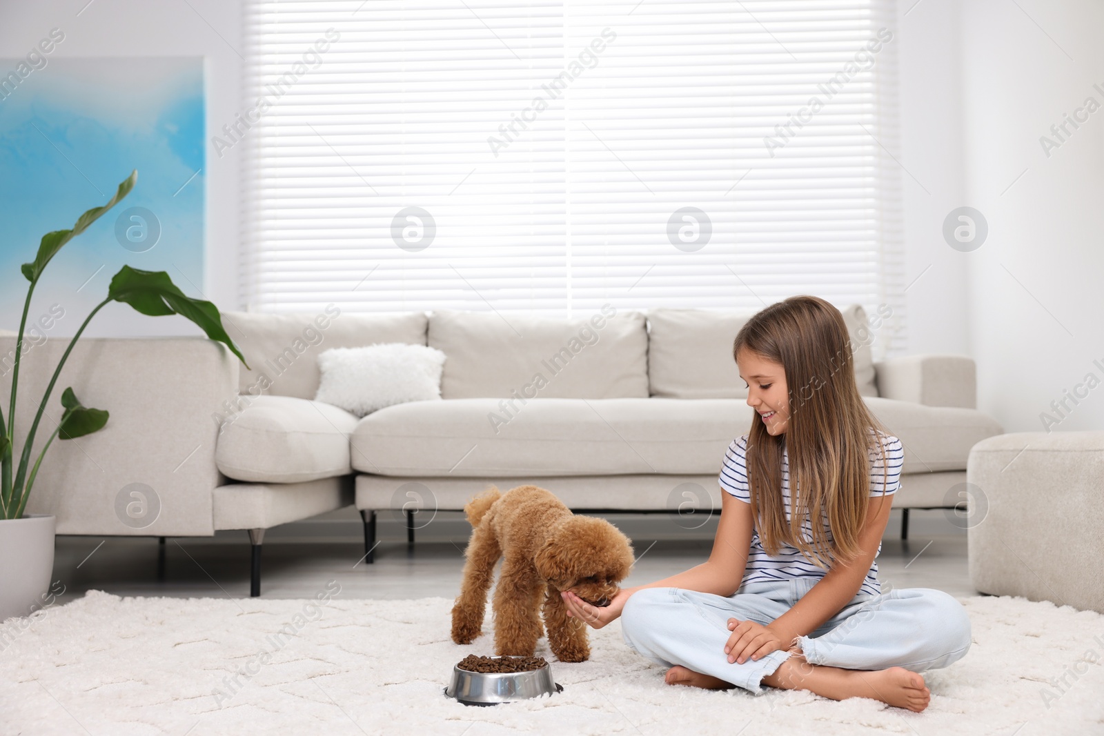
[[[963,602],[974,644],[927,673],[932,702],[916,714],[800,691],[756,697],[668,686],[661,668],[625,647],[617,623],[592,632],[591,661],[553,664],[563,693],[468,707],[442,690],[464,655],[491,653],[490,638],[452,643],[452,601],[443,598],[338,593],[318,604],[93,591],[3,625],[0,733],[1104,733],[1104,616],[1023,598]],[[544,640],[538,653],[550,657]]]

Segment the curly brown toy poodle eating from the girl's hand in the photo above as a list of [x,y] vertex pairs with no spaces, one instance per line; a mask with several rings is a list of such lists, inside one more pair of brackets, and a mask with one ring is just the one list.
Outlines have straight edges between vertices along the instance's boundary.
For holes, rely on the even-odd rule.
[[605,520],[575,516],[535,486],[506,493],[491,488],[468,502],[464,513],[474,529],[453,606],[453,641],[467,644],[480,634],[487,590],[501,557],[492,604],[495,653],[533,655],[543,604],[552,653],[561,662],[585,661],[591,655],[586,625],[567,616],[560,591],[608,606],[633,566],[628,537]]

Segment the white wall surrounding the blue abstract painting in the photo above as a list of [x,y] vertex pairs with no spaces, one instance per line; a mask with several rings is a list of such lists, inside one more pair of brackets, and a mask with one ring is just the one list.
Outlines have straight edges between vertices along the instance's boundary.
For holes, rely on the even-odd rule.
[[[61,29],[65,41],[56,46],[51,58],[204,56],[208,131],[219,130],[241,109],[243,62],[238,54],[245,51],[238,2],[95,0],[88,4],[88,0],[0,0],[0,57],[25,56],[52,28]],[[240,151],[241,147],[231,149],[220,159],[210,145],[206,149],[203,297],[223,309],[237,305],[241,170],[240,153],[235,150]],[[4,247],[11,246],[6,244]],[[29,253],[26,259],[32,257],[33,253]],[[180,286],[185,294],[197,296],[188,285]],[[64,329],[60,326],[57,334],[61,335]],[[70,329],[67,334],[72,333]],[[113,303],[96,316],[85,334],[201,332],[180,317],[153,319],[125,305]]]

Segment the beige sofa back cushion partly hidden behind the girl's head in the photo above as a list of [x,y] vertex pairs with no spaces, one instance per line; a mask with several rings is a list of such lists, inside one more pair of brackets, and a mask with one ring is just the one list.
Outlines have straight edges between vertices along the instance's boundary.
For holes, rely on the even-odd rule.
[[[840,310],[854,353],[854,381],[862,396],[877,396],[867,313],[859,305]],[[648,382],[652,396],[746,398],[732,360],[732,342],[754,312],[654,309],[648,312]]]

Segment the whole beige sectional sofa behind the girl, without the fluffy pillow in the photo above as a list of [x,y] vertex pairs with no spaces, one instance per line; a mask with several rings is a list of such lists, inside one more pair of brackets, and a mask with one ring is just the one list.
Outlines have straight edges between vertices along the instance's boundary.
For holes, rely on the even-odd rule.
[[[318,314],[225,312],[252,370],[200,338],[82,340],[47,403],[43,431],[60,417],[70,385],[112,419],[95,435],[53,444],[29,511],[56,514],[59,534],[247,530],[253,595],[266,529],[352,503],[364,520],[368,562],[376,512],[405,511],[413,541],[418,513],[460,510],[490,482],[539,483],[576,510],[711,512],[720,509],[724,451],[752,420],[730,354],[749,316],[606,308],[569,321],[351,314],[332,306]],[[974,408],[973,361],[874,363],[862,310],[845,317],[860,391],[905,448],[894,505],[953,506],[948,493],[966,479],[970,448],[1000,433]],[[444,351],[442,399],[362,419],[312,401],[319,352],[381,342]],[[20,434],[33,416],[31,397],[45,388],[45,366],[66,344],[51,339],[26,353]],[[13,338],[0,337],[0,359],[13,349]],[[6,396],[10,375],[6,367],[0,374]],[[139,524],[120,511],[132,483],[151,489],[159,504]]]

